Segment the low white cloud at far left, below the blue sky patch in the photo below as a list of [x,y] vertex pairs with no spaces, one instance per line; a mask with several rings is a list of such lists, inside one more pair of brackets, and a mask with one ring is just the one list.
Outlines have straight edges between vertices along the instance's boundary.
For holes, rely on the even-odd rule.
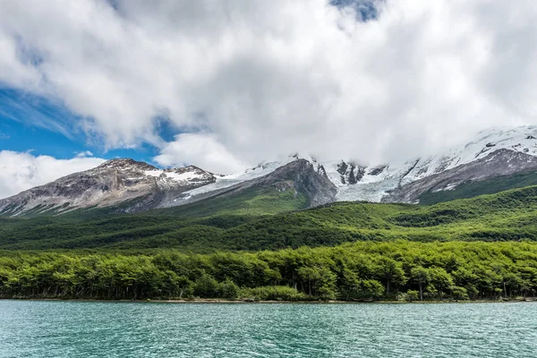
[[64,175],[88,170],[105,160],[101,158],[56,159],[29,152],[0,151],[0,198],[54,181]]

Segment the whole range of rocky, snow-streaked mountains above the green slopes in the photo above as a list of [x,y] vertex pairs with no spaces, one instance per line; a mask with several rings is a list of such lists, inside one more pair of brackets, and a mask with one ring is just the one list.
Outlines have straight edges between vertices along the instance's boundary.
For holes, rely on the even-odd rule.
[[337,200],[417,202],[424,192],[530,171],[537,171],[537,126],[493,128],[436,155],[373,166],[294,154],[243,173],[213,175],[196,166],[162,170],[114,159],[0,200],[0,215],[59,214],[91,207],[127,212],[166,208],[284,182],[305,192],[311,206]]

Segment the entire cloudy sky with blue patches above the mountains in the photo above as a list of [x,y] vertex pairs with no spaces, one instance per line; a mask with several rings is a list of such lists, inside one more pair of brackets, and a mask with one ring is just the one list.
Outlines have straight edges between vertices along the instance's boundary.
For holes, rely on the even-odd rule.
[[379,164],[537,124],[531,0],[0,0],[0,197],[109,158]]

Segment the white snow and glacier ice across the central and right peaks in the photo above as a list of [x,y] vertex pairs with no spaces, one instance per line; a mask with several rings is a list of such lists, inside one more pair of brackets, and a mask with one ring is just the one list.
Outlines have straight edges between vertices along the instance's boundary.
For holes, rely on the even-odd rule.
[[478,132],[476,138],[462,146],[447,149],[436,155],[413,158],[403,163],[379,163],[360,166],[344,160],[319,162],[311,156],[294,154],[276,161],[263,162],[243,173],[217,176],[215,183],[184,192],[184,200],[208,192],[230,187],[268,175],[280,166],[303,158],[311,162],[319,173],[337,187],[338,201],[366,200],[379,202],[388,192],[430,175],[444,172],[475,160],[485,158],[498,149],[508,149],[537,156],[537,126],[491,128]]

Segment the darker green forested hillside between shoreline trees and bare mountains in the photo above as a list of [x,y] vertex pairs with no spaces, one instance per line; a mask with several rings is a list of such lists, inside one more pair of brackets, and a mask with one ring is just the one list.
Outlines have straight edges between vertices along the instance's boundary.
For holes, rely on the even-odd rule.
[[211,252],[396,239],[537,240],[537,186],[432,206],[339,202],[298,210],[305,201],[291,191],[253,191],[139,214],[94,209],[0,218],[0,249]]

